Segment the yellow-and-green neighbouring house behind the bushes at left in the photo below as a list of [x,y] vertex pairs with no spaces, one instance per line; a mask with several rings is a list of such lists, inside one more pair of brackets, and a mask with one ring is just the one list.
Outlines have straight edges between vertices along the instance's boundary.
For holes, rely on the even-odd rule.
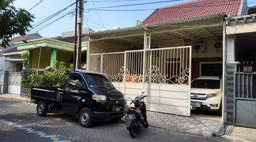
[[[83,30],[88,33],[90,29]],[[73,31],[64,32],[54,38],[43,38],[38,33],[14,38],[10,46],[3,49],[3,70],[0,72],[1,93],[22,94],[21,78],[23,59],[21,55],[28,52],[28,66],[37,73],[45,71],[46,67],[53,67],[55,60],[65,62],[66,67],[73,64],[74,35]],[[87,38],[82,39],[82,59],[86,62]]]

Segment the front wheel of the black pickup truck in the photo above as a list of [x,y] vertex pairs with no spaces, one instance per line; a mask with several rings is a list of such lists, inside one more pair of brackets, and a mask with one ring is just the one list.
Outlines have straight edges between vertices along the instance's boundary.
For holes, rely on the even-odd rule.
[[92,111],[85,107],[80,110],[78,121],[81,126],[89,128],[93,124]]

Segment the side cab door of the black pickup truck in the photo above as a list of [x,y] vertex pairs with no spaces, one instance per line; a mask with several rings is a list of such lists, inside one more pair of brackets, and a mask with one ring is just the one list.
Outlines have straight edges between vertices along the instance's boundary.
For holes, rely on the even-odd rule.
[[[79,83],[83,87],[78,87]],[[82,80],[82,76],[78,73],[72,73],[65,87],[65,94],[63,95],[63,111],[70,114],[75,113],[79,100],[82,98],[82,95],[85,95],[85,90],[83,89],[85,89],[85,82]]]

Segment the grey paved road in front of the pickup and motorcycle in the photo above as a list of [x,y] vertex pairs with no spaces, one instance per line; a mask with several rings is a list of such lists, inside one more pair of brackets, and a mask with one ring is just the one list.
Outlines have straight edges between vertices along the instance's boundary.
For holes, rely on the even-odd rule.
[[0,141],[228,141],[150,128],[132,139],[125,124],[110,121],[85,129],[71,116],[48,114],[40,117],[36,107],[0,97]]

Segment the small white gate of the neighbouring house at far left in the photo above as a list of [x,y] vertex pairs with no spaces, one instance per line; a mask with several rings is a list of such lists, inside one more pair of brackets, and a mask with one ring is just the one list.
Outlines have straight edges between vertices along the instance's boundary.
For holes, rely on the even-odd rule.
[[21,94],[21,72],[9,72],[9,94]]

